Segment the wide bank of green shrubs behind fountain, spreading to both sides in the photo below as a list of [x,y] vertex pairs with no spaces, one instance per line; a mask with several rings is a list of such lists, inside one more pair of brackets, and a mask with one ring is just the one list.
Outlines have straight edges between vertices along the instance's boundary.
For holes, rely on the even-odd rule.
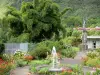
[[37,45],[35,45],[35,47],[30,51],[30,54],[35,58],[46,58],[47,52],[48,54],[51,54],[53,46],[56,47],[57,53],[59,53],[60,56],[64,57],[74,58],[77,51],[79,51],[79,48],[68,45],[67,40],[62,39],[60,41],[47,40],[40,42]]

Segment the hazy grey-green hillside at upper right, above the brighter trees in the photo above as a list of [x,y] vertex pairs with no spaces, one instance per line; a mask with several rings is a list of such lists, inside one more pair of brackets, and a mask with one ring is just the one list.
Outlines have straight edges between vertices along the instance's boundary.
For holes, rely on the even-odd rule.
[[100,16],[100,1],[99,0],[54,0],[61,7],[71,7],[70,15],[98,17]]

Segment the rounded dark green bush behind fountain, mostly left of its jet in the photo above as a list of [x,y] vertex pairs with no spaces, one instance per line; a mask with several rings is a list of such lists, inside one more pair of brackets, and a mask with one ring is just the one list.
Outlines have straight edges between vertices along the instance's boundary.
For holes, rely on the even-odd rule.
[[53,46],[56,47],[58,52],[62,49],[63,45],[58,41],[46,40],[36,44],[35,47],[32,50],[30,50],[30,54],[36,58],[46,58],[47,52],[51,54],[51,49],[53,48]]

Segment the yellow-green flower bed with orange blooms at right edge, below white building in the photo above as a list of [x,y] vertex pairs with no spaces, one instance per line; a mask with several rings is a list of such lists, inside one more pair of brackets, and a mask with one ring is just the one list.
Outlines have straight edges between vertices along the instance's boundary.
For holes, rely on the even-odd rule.
[[100,55],[97,51],[89,51],[87,56],[82,57],[85,66],[100,68]]

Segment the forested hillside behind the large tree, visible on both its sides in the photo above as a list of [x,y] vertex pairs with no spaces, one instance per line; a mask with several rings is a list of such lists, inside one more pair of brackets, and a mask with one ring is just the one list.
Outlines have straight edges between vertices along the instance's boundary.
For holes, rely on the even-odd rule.
[[[33,0],[0,0],[0,14],[4,13],[7,5],[20,8],[22,1]],[[53,0],[60,5],[60,10],[71,7],[72,11],[67,12],[67,15],[98,17],[100,16],[100,1],[99,0]]]

